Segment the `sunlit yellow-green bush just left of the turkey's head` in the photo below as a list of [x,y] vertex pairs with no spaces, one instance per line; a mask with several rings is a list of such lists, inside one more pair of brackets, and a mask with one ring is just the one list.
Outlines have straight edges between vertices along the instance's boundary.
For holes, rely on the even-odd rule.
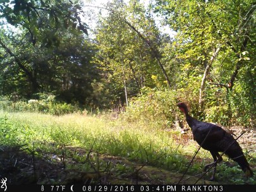
[[133,98],[123,117],[128,121],[143,121],[168,126],[175,119],[176,93],[171,90],[143,88],[139,97]]

